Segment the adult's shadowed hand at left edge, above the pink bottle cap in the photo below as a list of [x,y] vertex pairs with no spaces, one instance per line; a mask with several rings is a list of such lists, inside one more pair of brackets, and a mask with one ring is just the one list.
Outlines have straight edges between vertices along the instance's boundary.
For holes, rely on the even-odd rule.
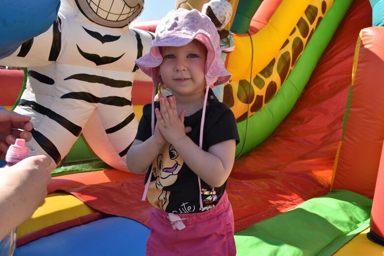
[[0,110],[0,159],[5,157],[9,145],[15,143],[16,139],[29,141],[32,128],[30,116]]

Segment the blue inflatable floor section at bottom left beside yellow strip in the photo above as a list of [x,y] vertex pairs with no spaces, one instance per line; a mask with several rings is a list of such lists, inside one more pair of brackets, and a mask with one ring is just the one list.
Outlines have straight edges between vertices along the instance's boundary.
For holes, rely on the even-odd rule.
[[108,217],[27,243],[14,256],[145,256],[148,235],[136,221]]

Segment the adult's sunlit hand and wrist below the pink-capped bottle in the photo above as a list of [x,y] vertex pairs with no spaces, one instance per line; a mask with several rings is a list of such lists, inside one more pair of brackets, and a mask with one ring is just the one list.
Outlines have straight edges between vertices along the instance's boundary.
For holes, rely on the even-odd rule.
[[0,239],[28,219],[47,196],[51,158],[38,155],[0,169]]

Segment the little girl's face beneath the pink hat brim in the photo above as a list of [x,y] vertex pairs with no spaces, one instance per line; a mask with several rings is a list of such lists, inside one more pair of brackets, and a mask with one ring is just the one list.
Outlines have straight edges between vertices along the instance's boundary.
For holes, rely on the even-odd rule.
[[160,76],[172,94],[202,97],[207,48],[198,40],[192,40],[180,47],[160,47],[160,53],[163,57]]

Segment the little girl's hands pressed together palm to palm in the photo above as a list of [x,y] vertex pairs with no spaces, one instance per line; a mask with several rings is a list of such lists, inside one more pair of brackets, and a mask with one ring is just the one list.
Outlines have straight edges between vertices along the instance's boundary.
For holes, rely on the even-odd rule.
[[185,133],[189,130],[184,127],[185,110],[181,111],[179,115],[177,114],[175,96],[167,98],[165,95],[161,95],[159,102],[160,110],[155,109],[156,128],[159,129],[165,140],[173,144],[186,136]]

